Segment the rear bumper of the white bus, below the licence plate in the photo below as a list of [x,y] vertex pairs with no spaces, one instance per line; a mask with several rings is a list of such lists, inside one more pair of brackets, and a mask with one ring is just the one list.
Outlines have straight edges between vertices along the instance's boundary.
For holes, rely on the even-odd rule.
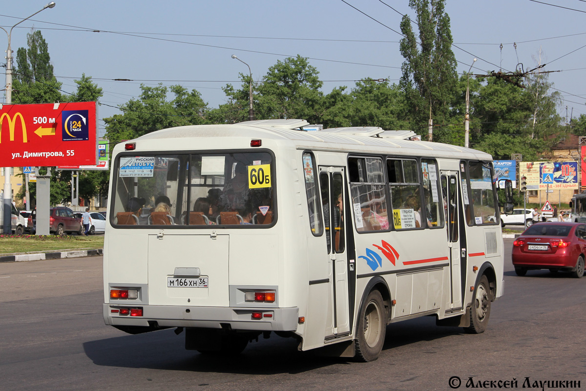
[[[142,316],[121,315],[123,308],[142,310]],[[296,331],[299,308],[233,308],[188,307],[177,305],[113,305],[103,304],[104,322],[115,326],[222,328],[230,325],[234,330]],[[115,312],[113,312],[115,311]],[[260,318],[253,318],[260,313]],[[256,315],[258,317],[258,315]]]

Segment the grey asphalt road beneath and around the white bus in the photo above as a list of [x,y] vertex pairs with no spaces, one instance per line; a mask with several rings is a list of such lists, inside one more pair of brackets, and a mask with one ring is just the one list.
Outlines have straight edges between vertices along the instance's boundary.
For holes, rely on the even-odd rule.
[[516,379],[521,389],[525,378],[532,388],[539,380],[586,387],[586,278],[517,277],[511,244],[505,239],[505,297],[493,302],[484,334],[433,318],[392,324],[371,363],[298,352],[278,336],[210,358],[183,349],[173,330],[105,326],[101,257],[0,264],[0,390],[451,390],[452,376],[459,389],[471,388],[470,377],[476,387]]

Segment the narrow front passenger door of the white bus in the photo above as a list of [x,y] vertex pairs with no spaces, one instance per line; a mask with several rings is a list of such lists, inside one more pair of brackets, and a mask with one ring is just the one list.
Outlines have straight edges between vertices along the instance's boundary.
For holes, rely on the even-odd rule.
[[460,270],[461,246],[459,232],[459,215],[461,205],[458,199],[458,171],[441,172],[441,188],[444,198],[445,221],[448,232],[449,269],[451,286],[451,308],[462,308],[462,276]]

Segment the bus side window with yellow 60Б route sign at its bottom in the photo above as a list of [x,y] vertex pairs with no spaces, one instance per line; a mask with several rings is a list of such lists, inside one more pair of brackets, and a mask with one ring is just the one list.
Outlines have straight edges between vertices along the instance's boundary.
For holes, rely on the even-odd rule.
[[[429,166],[426,169],[428,171]],[[395,229],[425,227],[425,219],[422,219],[418,172],[415,160],[387,159],[389,192],[393,205],[393,226]],[[427,174],[429,175],[428,172]]]

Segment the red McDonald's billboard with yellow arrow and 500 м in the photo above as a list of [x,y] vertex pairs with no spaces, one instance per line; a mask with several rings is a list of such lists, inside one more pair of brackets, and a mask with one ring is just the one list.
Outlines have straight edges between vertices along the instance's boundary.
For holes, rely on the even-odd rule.
[[4,104],[0,166],[95,165],[96,102]]

